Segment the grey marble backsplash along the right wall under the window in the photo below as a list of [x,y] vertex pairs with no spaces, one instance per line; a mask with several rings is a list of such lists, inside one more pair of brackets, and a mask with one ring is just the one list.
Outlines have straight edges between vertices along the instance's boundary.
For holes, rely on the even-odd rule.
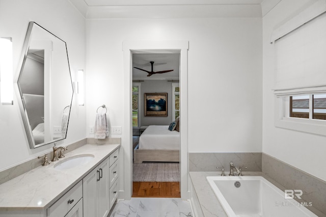
[[[322,212],[316,214],[318,216],[326,216],[325,181],[265,153],[262,155],[262,172],[283,185],[284,189],[301,189],[303,191],[302,200],[296,200],[312,202],[312,208]],[[310,209],[310,207],[307,208]],[[310,210],[314,212],[314,210]]]

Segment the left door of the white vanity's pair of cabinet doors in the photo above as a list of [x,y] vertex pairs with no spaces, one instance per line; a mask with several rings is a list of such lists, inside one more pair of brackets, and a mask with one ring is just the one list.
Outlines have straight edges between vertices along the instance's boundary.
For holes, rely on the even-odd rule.
[[99,175],[98,168],[96,168],[83,179],[84,217],[96,216],[96,191]]

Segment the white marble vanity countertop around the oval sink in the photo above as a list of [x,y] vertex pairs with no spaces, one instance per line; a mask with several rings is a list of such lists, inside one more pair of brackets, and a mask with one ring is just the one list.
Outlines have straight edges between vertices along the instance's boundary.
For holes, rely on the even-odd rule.
[[46,210],[72,186],[91,172],[120,144],[87,144],[65,153],[66,159],[78,154],[93,154],[94,158],[85,165],[71,169],[57,170],[53,166],[60,163],[50,162],[0,185],[0,211],[9,210]]

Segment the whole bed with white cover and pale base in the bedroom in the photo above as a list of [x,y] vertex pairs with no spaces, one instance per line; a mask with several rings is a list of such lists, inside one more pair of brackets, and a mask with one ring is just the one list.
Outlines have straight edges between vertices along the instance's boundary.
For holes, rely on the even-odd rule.
[[179,162],[180,132],[169,125],[150,125],[141,134],[133,150],[133,161]]

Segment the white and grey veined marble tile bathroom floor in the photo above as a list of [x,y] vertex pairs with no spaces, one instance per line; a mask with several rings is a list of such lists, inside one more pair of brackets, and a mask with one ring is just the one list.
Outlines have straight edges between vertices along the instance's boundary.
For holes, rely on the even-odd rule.
[[131,198],[118,201],[110,217],[193,217],[190,203],[180,198]]

